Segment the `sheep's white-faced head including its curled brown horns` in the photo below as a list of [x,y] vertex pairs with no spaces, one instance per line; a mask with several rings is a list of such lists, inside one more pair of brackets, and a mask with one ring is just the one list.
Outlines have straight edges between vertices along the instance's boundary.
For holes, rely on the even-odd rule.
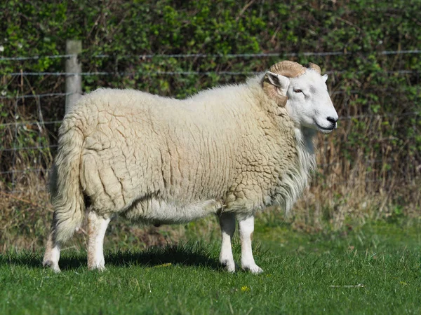
[[328,134],[337,126],[338,113],[330,100],[327,79],[316,64],[305,67],[283,61],[270,67],[262,87],[278,106],[286,107],[296,125]]

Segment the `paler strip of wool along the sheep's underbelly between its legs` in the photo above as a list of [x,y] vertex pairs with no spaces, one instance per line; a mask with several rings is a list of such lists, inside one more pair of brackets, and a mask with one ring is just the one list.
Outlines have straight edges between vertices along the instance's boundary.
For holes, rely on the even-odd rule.
[[180,205],[175,202],[166,202],[154,197],[135,202],[126,212],[125,216],[131,220],[146,221],[154,224],[187,223],[209,214],[216,214],[222,204],[215,200]]

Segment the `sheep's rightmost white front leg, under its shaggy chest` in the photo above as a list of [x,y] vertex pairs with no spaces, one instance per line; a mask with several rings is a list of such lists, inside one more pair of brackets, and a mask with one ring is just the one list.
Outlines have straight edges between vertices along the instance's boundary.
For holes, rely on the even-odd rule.
[[250,270],[253,274],[259,274],[263,270],[255,264],[253,252],[251,251],[251,238],[254,231],[254,216],[238,218],[240,240],[241,240],[241,268]]

